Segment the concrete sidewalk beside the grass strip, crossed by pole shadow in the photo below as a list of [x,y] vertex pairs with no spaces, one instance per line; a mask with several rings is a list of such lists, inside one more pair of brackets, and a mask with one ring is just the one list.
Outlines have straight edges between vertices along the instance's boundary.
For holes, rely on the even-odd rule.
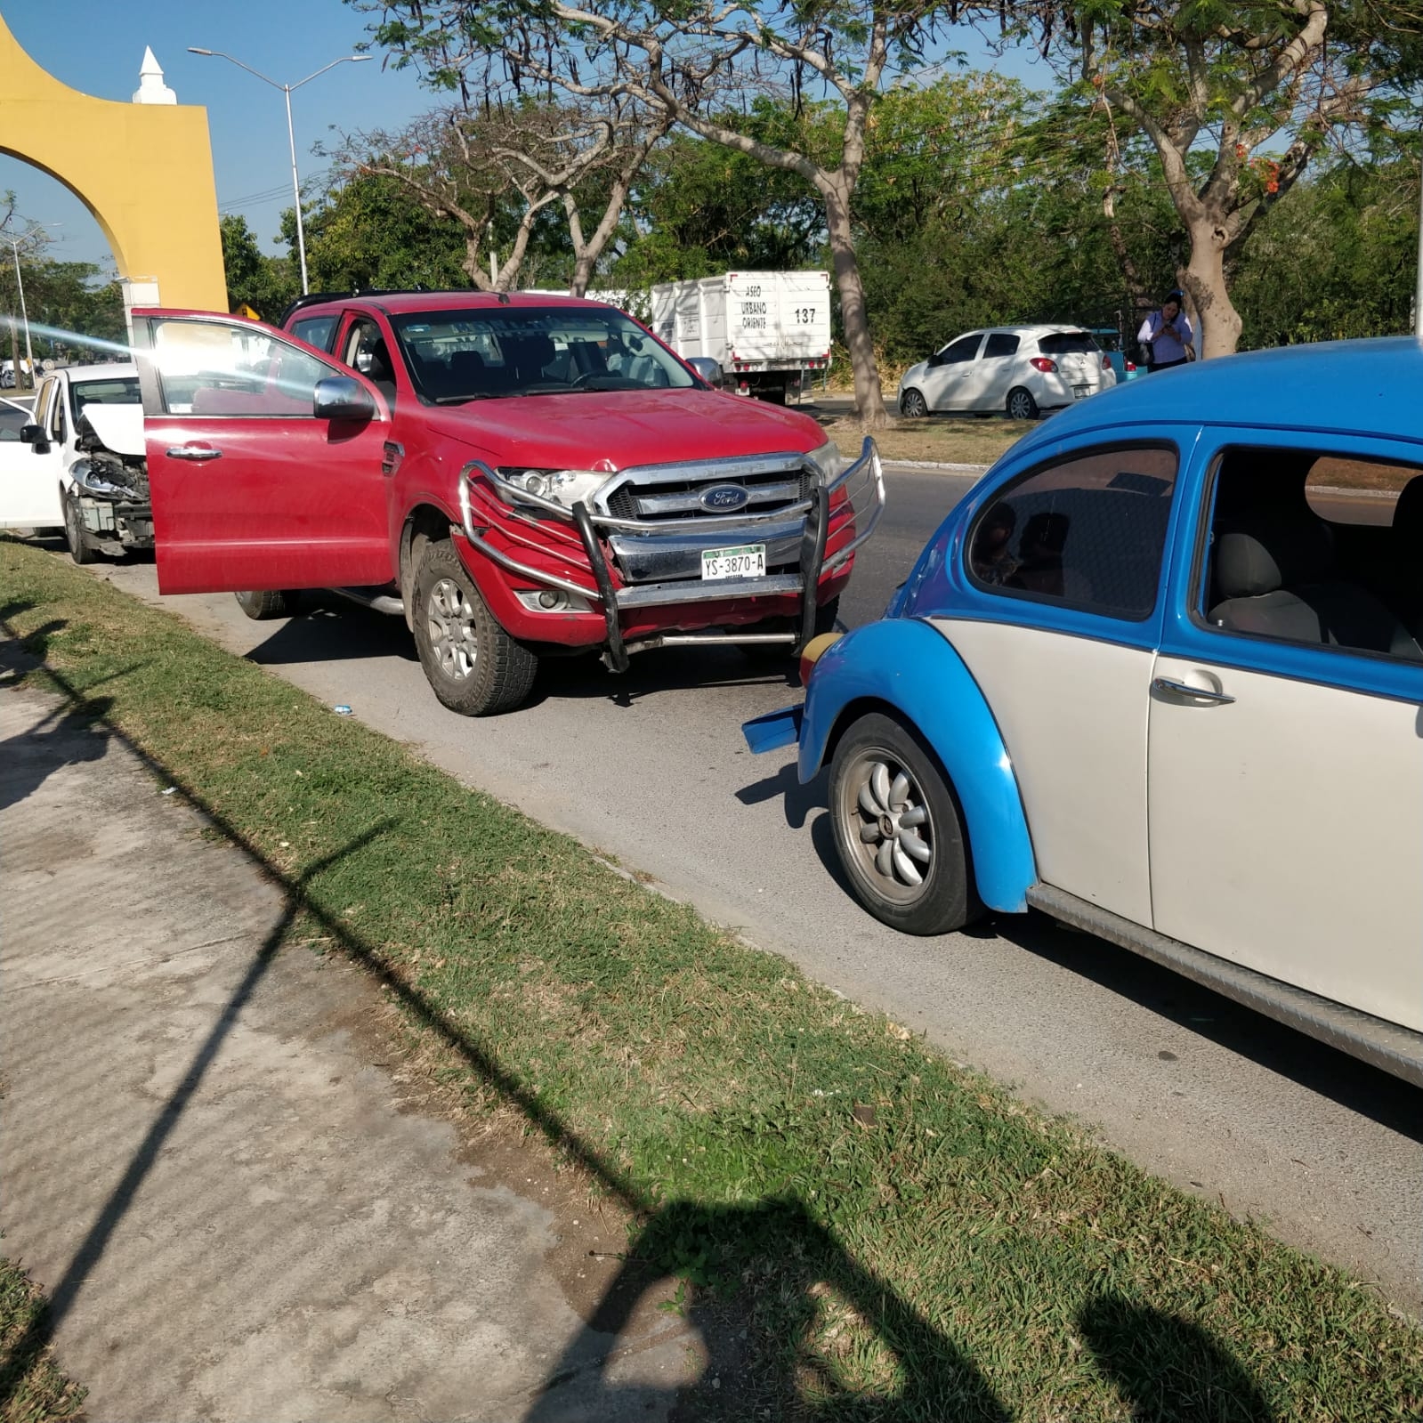
[[666,1282],[598,1328],[628,1312],[620,1222],[433,1116],[377,988],[273,951],[282,887],[11,686],[17,657],[0,642],[0,1251],[87,1416],[667,1417],[706,1350]]

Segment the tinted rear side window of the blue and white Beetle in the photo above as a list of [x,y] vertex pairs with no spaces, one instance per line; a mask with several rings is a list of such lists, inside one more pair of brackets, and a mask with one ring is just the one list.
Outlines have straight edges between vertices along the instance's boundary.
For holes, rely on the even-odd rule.
[[1136,445],[1077,455],[1002,488],[969,532],[969,581],[993,593],[1109,618],[1155,608],[1177,453]]

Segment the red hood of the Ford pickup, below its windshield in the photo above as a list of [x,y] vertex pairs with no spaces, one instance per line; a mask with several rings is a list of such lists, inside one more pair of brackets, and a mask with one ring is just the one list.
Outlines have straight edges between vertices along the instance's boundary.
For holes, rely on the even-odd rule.
[[626,390],[472,400],[430,425],[495,465],[609,472],[744,454],[807,454],[825,443],[810,416],[714,390]]

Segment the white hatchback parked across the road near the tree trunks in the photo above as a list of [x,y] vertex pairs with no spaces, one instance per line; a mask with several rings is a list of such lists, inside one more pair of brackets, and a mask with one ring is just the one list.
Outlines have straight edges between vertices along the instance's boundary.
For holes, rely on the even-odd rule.
[[955,410],[1033,420],[1116,383],[1107,354],[1080,326],[990,326],[911,366],[899,381],[899,413]]

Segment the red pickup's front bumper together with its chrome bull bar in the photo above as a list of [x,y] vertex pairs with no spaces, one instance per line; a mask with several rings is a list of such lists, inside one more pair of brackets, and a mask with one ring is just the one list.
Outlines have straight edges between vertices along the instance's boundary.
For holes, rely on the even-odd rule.
[[[731,478],[717,462],[673,468],[680,478]],[[509,632],[602,645],[609,666],[623,670],[629,653],[645,647],[803,646],[814,635],[818,603],[848,579],[854,552],[874,532],[884,502],[884,470],[869,438],[838,478],[817,481],[794,504],[761,514],[675,519],[619,518],[582,502],[565,509],[474,461],[461,471],[460,532],[472,554],[504,575],[501,592],[508,596],[494,610]],[[766,576],[702,579],[703,549],[741,544],[766,545]],[[484,591],[484,579],[472,571]],[[556,620],[525,612],[509,591],[514,583],[561,595],[569,612]],[[593,618],[596,632],[589,626]],[[771,618],[788,618],[793,630],[737,630]]]

